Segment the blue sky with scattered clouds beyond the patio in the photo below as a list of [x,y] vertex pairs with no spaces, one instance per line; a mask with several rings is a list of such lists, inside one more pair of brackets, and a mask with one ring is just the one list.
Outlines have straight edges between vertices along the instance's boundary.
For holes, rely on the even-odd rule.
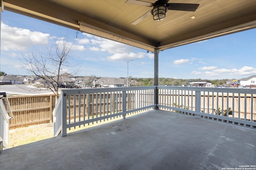
[[[0,71],[27,75],[22,54],[46,51],[55,40],[66,36],[72,44],[70,65],[80,64],[76,76],[154,77],[154,55],[143,49],[124,45],[22,16],[2,12]],[[65,67],[63,72],[73,72]],[[256,75],[256,29],[234,33],[198,43],[160,51],[159,77],[182,79],[241,79]]]

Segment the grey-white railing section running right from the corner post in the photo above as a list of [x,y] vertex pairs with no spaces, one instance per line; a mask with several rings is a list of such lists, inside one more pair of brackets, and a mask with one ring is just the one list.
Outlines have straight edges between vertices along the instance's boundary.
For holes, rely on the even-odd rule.
[[158,107],[256,128],[256,90],[158,86]]

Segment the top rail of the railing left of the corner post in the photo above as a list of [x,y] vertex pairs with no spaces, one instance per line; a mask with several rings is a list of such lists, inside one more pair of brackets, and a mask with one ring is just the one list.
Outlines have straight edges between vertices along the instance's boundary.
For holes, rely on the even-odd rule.
[[62,89],[63,93],[68,94],[86,94],[86,93],[103,93],[103,92],[120,92],[120,91],[132,91],[132,90],[147,90],[155,89],[156,86],[139,86],[139,87],[116,87],[116,88],[86,88],[86,89]]

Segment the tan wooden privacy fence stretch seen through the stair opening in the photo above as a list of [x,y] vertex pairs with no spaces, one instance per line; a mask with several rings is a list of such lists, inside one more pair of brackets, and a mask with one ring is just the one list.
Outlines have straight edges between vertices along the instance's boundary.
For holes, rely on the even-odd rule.
[[14,119],[9,129],[52,122],[54,95],[17,96],[8,98]]

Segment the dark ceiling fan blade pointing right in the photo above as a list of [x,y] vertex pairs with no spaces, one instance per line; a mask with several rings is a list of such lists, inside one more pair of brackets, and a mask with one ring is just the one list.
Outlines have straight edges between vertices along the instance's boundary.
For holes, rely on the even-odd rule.
[[168,3],[166,7],[168,10],[178,10],[178,11],[196,11],[199,4],[182,4],[182,3]]

